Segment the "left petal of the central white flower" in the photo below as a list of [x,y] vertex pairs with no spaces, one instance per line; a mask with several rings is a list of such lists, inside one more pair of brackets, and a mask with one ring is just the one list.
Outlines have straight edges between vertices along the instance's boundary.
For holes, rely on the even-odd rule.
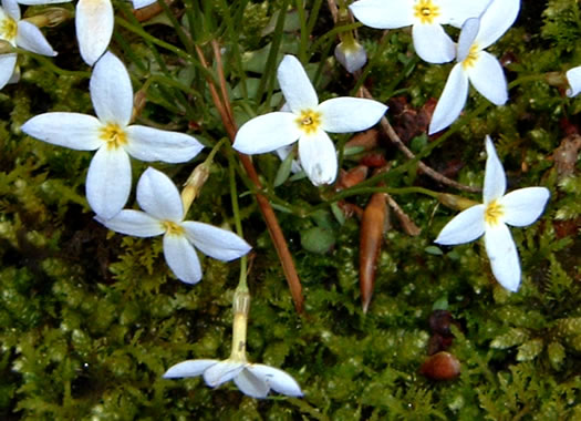
[[287,112],[259,115],[246,122],[234,141],[232,147],[243,154],[262,154],[297,142],[301,130],[298,116]]

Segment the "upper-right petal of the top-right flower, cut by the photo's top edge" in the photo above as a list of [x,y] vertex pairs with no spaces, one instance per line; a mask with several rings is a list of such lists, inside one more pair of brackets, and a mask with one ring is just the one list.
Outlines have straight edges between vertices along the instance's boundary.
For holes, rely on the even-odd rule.
[[486,49],[498,40],[517,19],[520,0],[492,0],[480,18],[476,42]]

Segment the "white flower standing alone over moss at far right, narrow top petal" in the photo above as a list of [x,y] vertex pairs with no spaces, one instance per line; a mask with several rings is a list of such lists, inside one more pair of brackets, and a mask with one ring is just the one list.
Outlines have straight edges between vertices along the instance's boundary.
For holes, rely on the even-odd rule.
[[492,274],[506,289],[516,291],[520,285],[520,264],[506,224],[517,227],[532,224],[542,214],[550,194],[544,187],[527,187],[505,195],[505,170],[489,136],[486,136],[486,152],[484,204],[469,207],[454,217],[435,242],[443,245],[464,244],[484,234]]

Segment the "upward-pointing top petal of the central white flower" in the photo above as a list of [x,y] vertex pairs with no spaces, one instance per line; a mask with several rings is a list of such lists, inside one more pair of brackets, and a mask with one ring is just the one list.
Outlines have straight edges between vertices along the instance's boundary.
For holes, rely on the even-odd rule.
[[290,110],[298,114],[319,104],[317,92],[294,55],[284,55],[277,71],[280,89]]

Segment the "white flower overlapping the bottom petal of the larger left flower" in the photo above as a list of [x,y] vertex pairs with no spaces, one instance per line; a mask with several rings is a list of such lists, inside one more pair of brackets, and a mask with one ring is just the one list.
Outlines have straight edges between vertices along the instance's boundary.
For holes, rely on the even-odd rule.
[[201,279],[196,248],[219,260],[232,260],[250,250],[236,234],[208,224],[184,220],[181,197],[174,183],[152,167],[137,183],[137,203],[145,210],[123,209],[111,219],[97,220],[117,233],[136,237],[164,234],[164,256],[169,268],[184,283]]

